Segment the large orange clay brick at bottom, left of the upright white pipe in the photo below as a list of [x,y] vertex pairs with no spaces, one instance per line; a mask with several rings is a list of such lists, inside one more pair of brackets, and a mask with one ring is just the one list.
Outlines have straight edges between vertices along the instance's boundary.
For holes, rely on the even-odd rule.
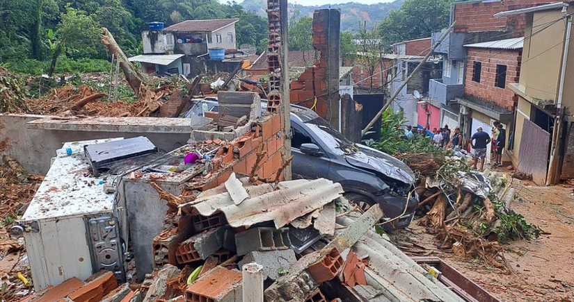
[[225,296],[234,295],[237,283],[241,283],[241,272],[216,267],[209,274],[200,277],[187,287],[187,302],[221,301]]

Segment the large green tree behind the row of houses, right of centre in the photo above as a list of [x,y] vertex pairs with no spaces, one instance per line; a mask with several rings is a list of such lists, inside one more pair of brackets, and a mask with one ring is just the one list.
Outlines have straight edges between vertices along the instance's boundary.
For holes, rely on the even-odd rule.
[[422,37],[448,26],[450,3],[455,0],[405,0],[398,10],[391,10],[378,31],[392,44]]

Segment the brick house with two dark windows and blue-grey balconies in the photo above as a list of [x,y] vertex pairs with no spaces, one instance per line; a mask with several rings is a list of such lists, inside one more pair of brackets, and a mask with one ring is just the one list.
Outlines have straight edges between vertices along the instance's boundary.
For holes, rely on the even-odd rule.
[[[478,126],[491,131],[494,120],[505,122],[507,132],[511,134],[516,97],[511,95],[507,84],[518,78],[521,58],[520,42],[512,39],[524,37],[527,19],[524,15],[500,18],[494,15],[547,2],[472,0],[452,3],[449,19],[450,24],[456,22],[454,30],[447,33],[445,40],[434,50],[444,58],[443,77],[431,79],[429,83],[429,98],[440,104],[440,125],[458,124],[465,141]],[[431,44],[438,42],[444,32],[433,33]]]

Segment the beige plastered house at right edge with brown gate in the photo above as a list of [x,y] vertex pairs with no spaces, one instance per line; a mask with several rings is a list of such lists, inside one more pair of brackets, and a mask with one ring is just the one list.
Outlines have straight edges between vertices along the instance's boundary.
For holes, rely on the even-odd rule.
[[509,155],[539,185],[574,178],[573,13],[572,3],[558,2],[497,14],[526,19],[520,76],[509,83],[518,99]]

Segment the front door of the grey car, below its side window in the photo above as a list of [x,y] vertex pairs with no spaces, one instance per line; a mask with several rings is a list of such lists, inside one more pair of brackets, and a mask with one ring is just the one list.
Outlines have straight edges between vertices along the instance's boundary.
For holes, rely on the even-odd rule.
[[[326,178],[329,171],[330,160],[326,155],[325,151],[321,149],[323,155],[321,156],[310,156],[307,155],[299,148],[301,144],[313,143],[317,144],[314,138],[305,131],[305,129],[298,124],[291,124],[291,131],[293,137],[291,139],[291,153],[293,156],[292,161],[292,176],[293,179],[296,178]],[[317,144],[321,148],[320,144]]]

